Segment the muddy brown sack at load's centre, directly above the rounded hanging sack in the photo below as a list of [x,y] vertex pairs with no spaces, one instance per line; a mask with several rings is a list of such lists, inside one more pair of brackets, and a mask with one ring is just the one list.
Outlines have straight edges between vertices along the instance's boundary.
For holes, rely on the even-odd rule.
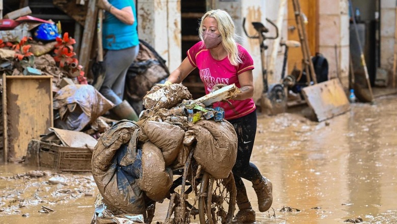
[[174,163],[182,149],[185,135],[182,128],[166,122],[146,121],[140,130],[148,136],[151,143],[161,150],[165,166]]

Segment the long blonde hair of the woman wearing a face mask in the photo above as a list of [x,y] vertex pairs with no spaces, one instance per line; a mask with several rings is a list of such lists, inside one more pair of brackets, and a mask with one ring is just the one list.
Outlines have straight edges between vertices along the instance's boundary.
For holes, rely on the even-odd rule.
[[206,17],[212,17],[218,22],[218,30],[222,38],[222,45],[226,52],[228,52],[230,63],[232,63],[232,65],[242,63],[235,40],[236,33],[234,22],[229,13],[221,9],[206,12],[201,18],[200,28],[198,29],[198,36],[200,36],[201,40],[203,40],[203,21]]

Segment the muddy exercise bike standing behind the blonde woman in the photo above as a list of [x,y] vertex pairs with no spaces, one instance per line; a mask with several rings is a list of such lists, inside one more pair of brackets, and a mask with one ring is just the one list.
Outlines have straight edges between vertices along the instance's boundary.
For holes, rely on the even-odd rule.
[[262,63],[262,77],[263,77],[263,91],[260,99],[261,111],[269,110],[271,115],[276,115],[280,113],[284,113],[287,108],[287,88],[295,85],[295,79],[291,76],[285,77],[286,66],[288,61],[288,49],[289,47],[300,47],[300,43],[298,41],[280,41],[280,46],[285,47],[284,51],[284,59],[282,63],[282,71],[281,71],[281,81],[277,83],[272,83],[269,85],[268,76],[267,76],[267,61],[265,50],[268,49],[268,45],[264,43],[266,39],[274,40],[278,38],[278,28],[276,24],[274,24],[270,19],[266,18],[272,26],[274,26],[276,34],[274,37],[266,36],[266,33],[269,32],[269,29],[261,23],[261,22],[251,22],[254,29],[257,31],[257,35],[250,36],[245,30],[245,18],[243,19],[243,30],[245,35],[251,39],[259,39],[259,46],[261,49],[261,63]]

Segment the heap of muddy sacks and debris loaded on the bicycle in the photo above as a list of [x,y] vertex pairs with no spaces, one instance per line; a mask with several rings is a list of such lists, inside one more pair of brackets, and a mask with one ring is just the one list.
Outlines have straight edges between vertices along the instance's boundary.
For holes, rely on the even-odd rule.
[[[222,112],[191,99],[181,84],[155,86],[144,97],[138,122],[122,120],[98,139],[92,173],[100,194],[94,222],[146,214],[169,197],[173,170],[191,150],[202,170],[226,178],[237,156],[237,135]],[[145,216],[145,215],[144,215]]]

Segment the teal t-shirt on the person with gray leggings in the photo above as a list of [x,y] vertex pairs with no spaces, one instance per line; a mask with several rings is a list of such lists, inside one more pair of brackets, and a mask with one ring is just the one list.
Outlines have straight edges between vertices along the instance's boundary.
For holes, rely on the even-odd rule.
[[102,30],[103,48],[108,50],[121,50],[138,45],[136,8],[133,0],[109,0],[109,3],[118,9],[131,6],[135,22],[132,25],[125,24],[116,16],[106,12]]

